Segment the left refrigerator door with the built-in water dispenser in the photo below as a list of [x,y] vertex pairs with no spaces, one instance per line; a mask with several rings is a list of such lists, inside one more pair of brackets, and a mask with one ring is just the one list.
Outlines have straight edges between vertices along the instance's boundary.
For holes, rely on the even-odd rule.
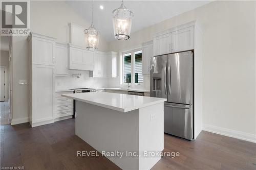
[[167,55],[151,58],[150,96],[167,99]]

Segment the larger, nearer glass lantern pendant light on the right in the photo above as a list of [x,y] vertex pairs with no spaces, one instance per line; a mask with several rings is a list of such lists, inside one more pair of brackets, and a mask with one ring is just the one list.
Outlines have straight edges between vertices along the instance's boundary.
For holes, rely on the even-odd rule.
[[127,40],[130,38],[133,12],[127,9],[122,1],[121,6],[112,12],[115,39]]

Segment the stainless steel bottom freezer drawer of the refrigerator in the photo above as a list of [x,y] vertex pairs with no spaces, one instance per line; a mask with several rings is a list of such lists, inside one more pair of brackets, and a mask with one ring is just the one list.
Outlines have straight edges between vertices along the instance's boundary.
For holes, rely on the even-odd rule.
[[193,139],[193,106],[164,103],[164,132]]

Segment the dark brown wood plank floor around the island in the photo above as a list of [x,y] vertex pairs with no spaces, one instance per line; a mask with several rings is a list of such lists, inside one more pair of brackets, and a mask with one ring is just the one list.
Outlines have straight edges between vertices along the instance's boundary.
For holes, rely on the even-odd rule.
[[[105,157],[77,157],[77,151],[93,151],[75,135],[74,119],[31,128],[1,126],[1,166],[25,169],[119,169]],[[152,169],[256,169],[256,143],[201,132],[187,141],[164,135],[164,151],[180,157],[162,159]]]

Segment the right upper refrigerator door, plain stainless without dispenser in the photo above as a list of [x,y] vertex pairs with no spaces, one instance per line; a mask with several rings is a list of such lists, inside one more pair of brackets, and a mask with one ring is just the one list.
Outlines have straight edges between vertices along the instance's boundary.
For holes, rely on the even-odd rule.
[[193,53],[168,55],[168,102],[193,104]]

